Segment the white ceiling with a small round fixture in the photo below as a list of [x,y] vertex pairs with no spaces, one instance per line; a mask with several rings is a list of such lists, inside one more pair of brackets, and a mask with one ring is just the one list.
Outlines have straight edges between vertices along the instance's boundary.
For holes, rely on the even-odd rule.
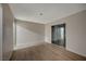
[[86,10],[86,4],[74,3],[11,3],[17,20],[47,24]]

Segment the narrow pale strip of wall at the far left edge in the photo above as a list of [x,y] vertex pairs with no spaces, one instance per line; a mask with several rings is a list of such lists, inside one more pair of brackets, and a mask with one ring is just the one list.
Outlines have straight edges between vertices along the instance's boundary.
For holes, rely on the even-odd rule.
[[0,5],[0,61],[2,60],[2,8]]

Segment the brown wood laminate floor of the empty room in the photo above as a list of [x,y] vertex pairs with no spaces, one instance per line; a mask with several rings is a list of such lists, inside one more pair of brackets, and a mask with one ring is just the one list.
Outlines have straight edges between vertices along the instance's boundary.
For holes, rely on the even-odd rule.
[[14,51],[11,61],[86,61],[86,57],[57,44],[44,43]]

